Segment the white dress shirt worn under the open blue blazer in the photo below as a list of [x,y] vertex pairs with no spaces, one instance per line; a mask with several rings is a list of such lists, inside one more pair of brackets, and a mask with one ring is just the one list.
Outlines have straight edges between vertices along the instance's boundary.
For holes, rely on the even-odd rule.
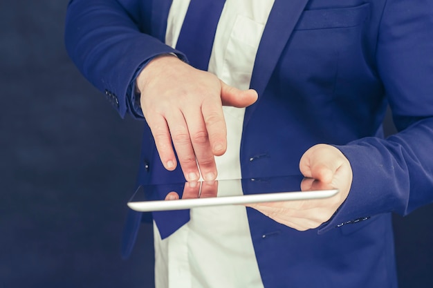
[[[226,84],[249,88],[255,55],[273,2],[225,1],[208,70]],[[165,38],[172,47],[176,46],[189,4],[190,0],[172,2]],[[223,107],[223,112],[228,148],[224,155],[215,158],[217,179],[239,179],[245,109]],[[263,288],[245,207],[191,209],[190,222],[165,240],[161,240],[155,224],[154,229],[156,288]]]

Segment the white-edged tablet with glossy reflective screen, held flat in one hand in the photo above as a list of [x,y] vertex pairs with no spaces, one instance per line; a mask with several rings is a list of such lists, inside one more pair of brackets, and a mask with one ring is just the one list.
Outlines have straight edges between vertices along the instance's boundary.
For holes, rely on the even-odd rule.
[[[304,189],[301,191],[301,182]],[[305,186],[309,187],[305,189]],[[135,211],[168,211],[218,205],[329,198],[338,193],[299,176],[140,186],[128,202]]]

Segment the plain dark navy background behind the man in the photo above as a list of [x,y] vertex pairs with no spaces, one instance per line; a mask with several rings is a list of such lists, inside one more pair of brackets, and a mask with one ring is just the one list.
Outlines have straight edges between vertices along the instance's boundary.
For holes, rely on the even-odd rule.
[[[142,123],[68,59],[67,2],[0,3],[0,287],[151,287],[149,224],[120,258]],[[394,220],[400,287],[433,287],[432,207]]]

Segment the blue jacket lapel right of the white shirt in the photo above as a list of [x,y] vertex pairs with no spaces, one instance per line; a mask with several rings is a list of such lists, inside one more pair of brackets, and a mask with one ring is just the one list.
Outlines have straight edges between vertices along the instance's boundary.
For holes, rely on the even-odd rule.
[[[260,96],[264,93],[277,61],[307,2],[308,0],[275,0],[252,70],[250,87],[259,93],[257,102],[260,101]],[[256,104],[247,108],[244,124],[248,123]]]

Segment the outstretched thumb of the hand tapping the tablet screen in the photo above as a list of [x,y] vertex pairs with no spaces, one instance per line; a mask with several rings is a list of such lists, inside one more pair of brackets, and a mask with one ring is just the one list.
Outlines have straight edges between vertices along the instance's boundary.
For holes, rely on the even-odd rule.
[[243,108],[257,101],[257,92],[253,89],[239,90],[221,81],[221,101],[224,106]]

